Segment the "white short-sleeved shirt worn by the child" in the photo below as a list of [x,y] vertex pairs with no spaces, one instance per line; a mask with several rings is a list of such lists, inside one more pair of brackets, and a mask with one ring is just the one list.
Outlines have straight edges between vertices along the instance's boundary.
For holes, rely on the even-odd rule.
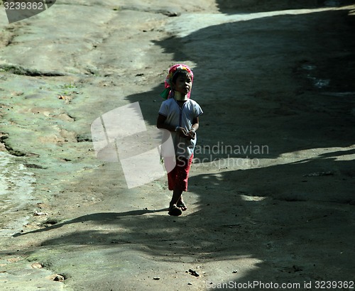
[[[163,101],[159,109],[159,114],[166,116],[165,123],[168,123],[171,126],[180,126],[187,131],[190,131],[191,129],[192,121],[202,113],[203,111],[200,105],[192,99],[187,99],[180,109],[178,102],[175,99],[170,98]],[[167,135],[171,135],[171,138],[173,139],[175,155],[177,157],[182,156],[189,159],[194,152],[197,135],[195,139],[189,140],[181,137],[179,133],[164,131],[163,141],[168,139]]]

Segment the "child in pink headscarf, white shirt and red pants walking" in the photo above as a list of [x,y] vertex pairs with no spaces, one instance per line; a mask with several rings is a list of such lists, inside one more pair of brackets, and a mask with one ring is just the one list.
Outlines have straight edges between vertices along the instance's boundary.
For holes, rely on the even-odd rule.
[[[165,79],[165,90],[160,94],[166,100],[160,106],[157,127],[167,130],[175,149],[175,156],[164,157],[165,169],[170,170],[168,187],[173,191],[168,213],[173,216],[179,216],[187,209],[182,192],[187,191],[197,141],[196,131],[202,114],[200,105],[190,99],[193,78],[192,70],[187,65],[173,65]],[[172,164],[175,165],[173,170]]]

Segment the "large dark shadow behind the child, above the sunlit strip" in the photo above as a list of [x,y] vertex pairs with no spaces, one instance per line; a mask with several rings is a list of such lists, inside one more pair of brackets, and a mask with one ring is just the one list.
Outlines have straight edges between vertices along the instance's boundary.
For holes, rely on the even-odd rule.
[[[176,62],[188,57],[197,63],[191,96],[204,109],[198,146],[268,146],[266,155],[256,153],[258,158],[351,146],[355,19],[348,13],[225,23],[157,43],[166,53],[175,53]],[[325,80],[329,84],[319,86]],[[163,82],[153,92],[129,97],[140,102],[152,125],[163,101],[158,96],[162,88]],[[240,151],[236,148],[231,157],[249,153],[253,158],[250,151]]]

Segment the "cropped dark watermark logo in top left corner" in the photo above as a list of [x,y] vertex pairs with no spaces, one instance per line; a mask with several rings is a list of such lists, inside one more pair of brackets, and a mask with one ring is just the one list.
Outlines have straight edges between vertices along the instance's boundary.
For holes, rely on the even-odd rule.
[[49,9],[55,0],[3,0],[9,23],[21,21]]

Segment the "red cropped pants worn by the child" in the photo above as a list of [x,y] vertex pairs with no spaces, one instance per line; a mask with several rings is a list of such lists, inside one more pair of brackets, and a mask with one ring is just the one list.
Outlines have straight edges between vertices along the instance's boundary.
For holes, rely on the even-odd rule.
[[189,178],[189,171],[191,168],[192,158],[189,160],[185,158],[177,158],[175,168],[168,172],[168,187],[173,191],[176,188],[187,191],[187,180]]

